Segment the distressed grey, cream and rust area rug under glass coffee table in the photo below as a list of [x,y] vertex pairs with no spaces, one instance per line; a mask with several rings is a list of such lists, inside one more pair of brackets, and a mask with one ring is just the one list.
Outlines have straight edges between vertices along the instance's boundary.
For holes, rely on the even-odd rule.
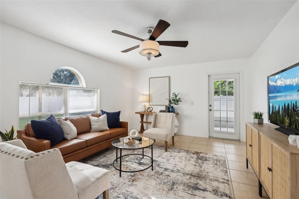
[[[122,153],[142,154],[142,149],[122,150]],[[144,154],[151,156],[151,149],[144,149]],[[109,198],[231,198],[225,157],[175,148],[165,152],[163,146],[153,146],[153,157],[153,171],[149,168],[142,172],[122,172],[121,177],[112,166],[116,149],[109,148],[84,163],[110,171]],[[141,170],[150,164],[148,157],[122,158],[122,170]],[[119,161],[115,166],[119,168]]]

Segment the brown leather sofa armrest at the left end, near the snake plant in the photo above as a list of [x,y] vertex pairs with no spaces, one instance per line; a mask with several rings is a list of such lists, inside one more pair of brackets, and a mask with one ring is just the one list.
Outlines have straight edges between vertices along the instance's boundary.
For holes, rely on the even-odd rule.
[[22,140],[27,149],[36,153],[51,149],[51,142],[49,140],[39,139],[28,136],[25,129],[17,130],[18,139]]

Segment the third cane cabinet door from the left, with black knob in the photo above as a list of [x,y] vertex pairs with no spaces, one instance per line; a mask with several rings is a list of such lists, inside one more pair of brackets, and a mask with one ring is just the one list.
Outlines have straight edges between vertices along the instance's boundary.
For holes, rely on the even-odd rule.
[[271,173],[271,141],[260,134],[260,180],[271,197],[272,173]]

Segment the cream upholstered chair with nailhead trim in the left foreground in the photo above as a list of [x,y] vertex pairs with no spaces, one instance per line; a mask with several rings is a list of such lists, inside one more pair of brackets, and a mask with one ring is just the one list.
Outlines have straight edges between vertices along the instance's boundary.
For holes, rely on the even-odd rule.
[[22,140],[0,143],[0,198],[108,199],[110,172],[79,162],[64,163],[58,149],[35,153]]

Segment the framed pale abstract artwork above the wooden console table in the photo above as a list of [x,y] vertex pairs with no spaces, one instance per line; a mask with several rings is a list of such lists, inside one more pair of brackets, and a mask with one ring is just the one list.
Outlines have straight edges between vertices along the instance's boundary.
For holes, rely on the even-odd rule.
[[149,105],[167,105],[166,98],[170,97],[170,77],[149,78]]

